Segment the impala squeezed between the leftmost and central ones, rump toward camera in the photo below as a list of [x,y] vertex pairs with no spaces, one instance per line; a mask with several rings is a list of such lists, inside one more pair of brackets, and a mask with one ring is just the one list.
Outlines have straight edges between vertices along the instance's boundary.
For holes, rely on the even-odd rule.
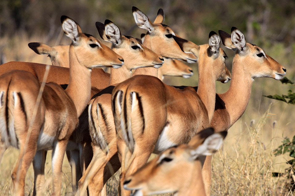
[[[102,38],[104,37],[104,35],[101,36]],[[89,132],[92,139],[94,156],[86,172],[79,181],[79,189],[82,189],[86,177],[90,177],[88,190],[91,195],[99,195],[103,185],[113,174],[113,172],[106,172],[108,171],[108,169],[106,169],[108,167],[106,163],[108,161],[118,162],[117,146],[115,142],[116,132],[111,107],[111,92],[113,86],[116,86],[118,82],[123,82],[131,78],[131,70],[139,67],[151,67],[155,64],[159,65],[162,64],[164,60],[160,55],[141,45],[135,38],[122,35],[118,42],[120,44],[113,43],[113,50],[124,58],[124,65],[119,69],[111,69],[110,85],[112,86],[102,90],[89,104]],[[132,49],[131,46],[137,45],[142,49]],[[88,176],[90,170],[95,166],[95,162],[98,160],[104,160],[104,164],[96,167],[93,174]],[[113,168],[114,172],[119,168],[120,165],[115,164]]]

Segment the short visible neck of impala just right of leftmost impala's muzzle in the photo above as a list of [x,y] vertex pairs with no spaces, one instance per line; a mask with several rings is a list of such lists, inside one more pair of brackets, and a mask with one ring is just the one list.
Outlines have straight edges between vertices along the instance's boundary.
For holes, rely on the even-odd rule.
[[[121,55],[121,54],[119,54],[119,55]],[[122,57],[123,57],[123,55],[122,55]],[[118,84],[120,82],[123,82],[124,80],[127,80],[128,78],[131,78],[132,72],[131,72],[131,70],[128,70],[126,68],[126,63],[128,63],[128,62],[125,61],[124,65],[118,69],[110,68],[109,86],[114,85],[114,84]]]

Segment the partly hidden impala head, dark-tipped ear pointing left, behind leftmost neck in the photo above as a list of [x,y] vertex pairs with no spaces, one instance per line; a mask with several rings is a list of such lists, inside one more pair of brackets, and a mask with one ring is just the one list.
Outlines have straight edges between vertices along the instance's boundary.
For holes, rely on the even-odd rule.
[[52,65],[60,67],[69,67],[69,47],[70,46],[53,46],[50,47],[43,43],[31,42],[28,46],[37,54],[47,54]]

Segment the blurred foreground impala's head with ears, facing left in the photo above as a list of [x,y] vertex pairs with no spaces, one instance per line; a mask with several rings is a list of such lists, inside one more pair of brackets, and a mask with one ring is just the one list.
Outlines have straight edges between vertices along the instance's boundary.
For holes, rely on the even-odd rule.
[[[195,135],[189,144],[172,147],[145,164],[124,182],[124,188],[135,195],[183,193],[192,179],[203,186],[201,155],[211,155],[222,145],[227,132],[215,133],[209,128]],[[197,188],[197,187],[196,187]]]

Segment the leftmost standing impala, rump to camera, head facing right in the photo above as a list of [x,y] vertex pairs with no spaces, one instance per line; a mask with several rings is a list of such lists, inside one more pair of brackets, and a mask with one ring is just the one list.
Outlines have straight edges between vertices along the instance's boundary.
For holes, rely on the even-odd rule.
[[[90,98],[91,69],[123,65],[121,56],[93,36],[82,33],[71,18],[62,16],[61,22],[64,33],[72,39],[69,47],[71,77],[66,90],[51,82],[44,85],[41,95],[40,82],[23,70],[11,70],[0,76],[1,139],[6,146],[20,149],[11,175],[17,195],[24,195],[25,175],[33,159],[38,160],[35,168],[41,167],[41,154],[48,149],[53,149],[53,194],[60,194],[62,160],[78,117]],[[41,170],[35,170],[35,183],[44,181],[39,178],[44,176],[38,173]],[[37,194],[41,194],[41,187],[36,189]]]

